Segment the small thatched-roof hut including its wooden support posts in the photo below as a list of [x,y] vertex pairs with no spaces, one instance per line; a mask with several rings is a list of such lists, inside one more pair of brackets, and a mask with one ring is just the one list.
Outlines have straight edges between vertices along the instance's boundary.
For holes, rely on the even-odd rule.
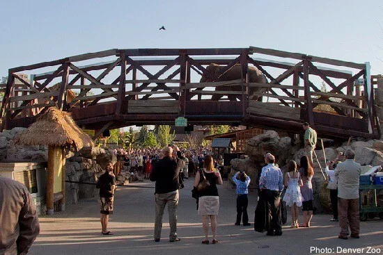
[[[65,151],[64,147],[79,150],[93,146],[92,139],[75,124],[70,113],[51,107],[26,131],[15,138],[22,145],[48,145],[47,214],[54,213],[54,201],[65,210]],[[56,197],[56,199],[55,199]]]

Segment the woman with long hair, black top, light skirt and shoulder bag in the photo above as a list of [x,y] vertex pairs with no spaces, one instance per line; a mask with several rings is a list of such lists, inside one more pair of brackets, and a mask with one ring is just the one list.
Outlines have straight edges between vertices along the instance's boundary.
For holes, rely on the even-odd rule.
[[209,181],[210,186],[205,190],[198,192],[198,215],[202,215],[202,227],[203,232],[205,233],[205,240],[203,240],[202,243],[208,245],[209,219],[213,235],[212,243],[216,244],[218,242],[216,239],[217,215],[219,210],[217,184],[222,184],[221,174],[214,168],[214,161],[211,155],[205,156],[204,167],[196,173],[194,188],[198,189],[198,184],[203,181],[204,177]]

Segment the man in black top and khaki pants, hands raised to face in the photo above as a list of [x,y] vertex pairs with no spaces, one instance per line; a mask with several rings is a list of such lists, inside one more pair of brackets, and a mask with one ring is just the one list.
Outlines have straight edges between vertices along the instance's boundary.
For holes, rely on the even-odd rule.
[[180,176],[180,169],[185,167],[185,161],[181,156],[180,149],[175,147],[177,151],[177,160],[173,160],[172,147],[165,147],[162,150],[164,158],[160,159],[154,166],[153,171],[150,173],[150,181],[155,181],[155,241],[159,242],[162,230],[162,215],[166,204],[169,210],[169,224],[170,224],[170,242],[179,241],[177,238],[177,208],[178,208],[178,179]]

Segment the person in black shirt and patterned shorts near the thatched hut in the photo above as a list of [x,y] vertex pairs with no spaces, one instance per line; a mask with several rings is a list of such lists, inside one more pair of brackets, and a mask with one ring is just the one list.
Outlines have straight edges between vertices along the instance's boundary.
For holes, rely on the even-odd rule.
[[103,235],[113,235],[113,232],[107,230],[109,214],[113,214],[113,195],[116,188],[116,177],[113,174],[113,168],[112,163],[107,165],[107,171],[100,176],[96,186],[96,188],[100,188],[101,233]]

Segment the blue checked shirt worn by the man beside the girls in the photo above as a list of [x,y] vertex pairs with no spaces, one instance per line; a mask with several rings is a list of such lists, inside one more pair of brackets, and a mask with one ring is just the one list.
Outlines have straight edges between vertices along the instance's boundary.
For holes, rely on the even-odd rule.
[[274,164],[263,167],[259,179],[259,188],[276,191],[283,190],[282,171]]

